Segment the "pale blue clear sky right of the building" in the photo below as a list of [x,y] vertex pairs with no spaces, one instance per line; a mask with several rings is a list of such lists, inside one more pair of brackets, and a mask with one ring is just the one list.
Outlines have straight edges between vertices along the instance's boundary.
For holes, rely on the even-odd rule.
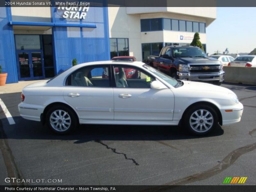
[[206,28],[206,50],[229,53],[256,48],[256,7],[217,7],[217,19]]

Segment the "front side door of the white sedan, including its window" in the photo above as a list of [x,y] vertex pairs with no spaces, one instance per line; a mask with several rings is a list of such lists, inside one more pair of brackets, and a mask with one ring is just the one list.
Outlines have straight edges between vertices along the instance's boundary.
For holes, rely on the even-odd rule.
[[[115,66],[124,70],[122,66]],[[132,67],[129,67],[132,68]],[[150,83],[155,80],[145,71],[138,70],[137,79],[125,79],[115,74],[114,87],[114,120],[126,121],[172,121],[174,110],[174,95],[166,89],[155,90]],[[115,69],[113,70],[115,72]],[[122,78],[124,82],[118,82]]]

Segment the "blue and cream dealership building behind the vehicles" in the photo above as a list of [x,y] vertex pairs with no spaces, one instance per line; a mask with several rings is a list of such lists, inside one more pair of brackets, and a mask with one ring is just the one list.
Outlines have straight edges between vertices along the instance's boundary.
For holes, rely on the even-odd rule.
[[[188,45],[216,19],[216,7],[0,7],[0,65],[6,83],[55,76],[77,63]],[[108,7],[107,7],[108,5]]]

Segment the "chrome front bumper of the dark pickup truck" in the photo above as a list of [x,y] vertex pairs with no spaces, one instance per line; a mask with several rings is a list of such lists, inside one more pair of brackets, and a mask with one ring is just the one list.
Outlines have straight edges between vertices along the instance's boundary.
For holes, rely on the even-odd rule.
[[180,80],[188,80],[188,81],[219,81],[223,82],[225,77],[225,72],[220,71],[219,73],[198,73],[191,74],[188,72],[177,72],[178,78]]

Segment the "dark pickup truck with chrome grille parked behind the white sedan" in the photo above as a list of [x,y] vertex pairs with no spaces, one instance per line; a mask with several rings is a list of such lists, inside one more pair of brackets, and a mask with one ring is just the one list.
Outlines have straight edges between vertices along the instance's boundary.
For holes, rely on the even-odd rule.
[[220,61],[207,57],[204,51],[194,46],[163,47],[159,56],[149,55],[146,63],[181,80],[221,84],[225,76]]

